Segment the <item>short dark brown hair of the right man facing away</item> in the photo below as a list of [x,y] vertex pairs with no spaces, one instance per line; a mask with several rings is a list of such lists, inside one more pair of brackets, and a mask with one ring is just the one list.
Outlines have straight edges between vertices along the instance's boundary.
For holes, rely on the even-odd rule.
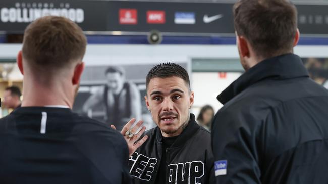
[[233,8],[238,36],[244,36],[258,57],[293,51],[297,10],[288,0],[239,0]]

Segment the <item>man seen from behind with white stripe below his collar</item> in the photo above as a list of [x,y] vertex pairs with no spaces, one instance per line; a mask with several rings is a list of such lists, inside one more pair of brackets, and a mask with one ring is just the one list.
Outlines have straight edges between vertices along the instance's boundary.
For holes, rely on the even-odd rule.
[[71,111],[86,43],[81,28],[63,17],[26,28],[17,57],[24,100],[0,119],[1,183],[130,183],[123,136]]

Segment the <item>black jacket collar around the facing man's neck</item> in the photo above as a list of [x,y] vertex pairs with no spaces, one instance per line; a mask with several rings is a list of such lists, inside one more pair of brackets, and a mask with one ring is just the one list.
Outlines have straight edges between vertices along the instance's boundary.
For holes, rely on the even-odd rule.
[[[186,128],[182,133],[177,137],[171,147],[179,147],[186,143],[188,139],[200,128],[200,126],[195,121],[195,115],[190,114],[190,120]],[[162,142],[162,135],[159,127],[156,127],[156,139],[159,142]]]

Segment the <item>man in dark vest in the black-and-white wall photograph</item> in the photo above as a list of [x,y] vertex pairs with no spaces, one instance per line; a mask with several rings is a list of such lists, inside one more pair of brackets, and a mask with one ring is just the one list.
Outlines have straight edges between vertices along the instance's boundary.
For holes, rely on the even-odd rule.
[[83,111],[92,117],[92,108],[103,103],[106,123],[122,130],[131,118],[141,118],[140,91],[133,82],[126,81],[122,67],[108,67],[105,75],[107,84],[86,100]]

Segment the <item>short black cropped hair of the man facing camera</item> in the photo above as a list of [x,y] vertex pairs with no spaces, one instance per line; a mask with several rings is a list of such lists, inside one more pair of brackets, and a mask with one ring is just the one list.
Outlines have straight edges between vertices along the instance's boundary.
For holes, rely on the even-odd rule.
[[179,64],[175,63],[161,63],[151,68],[146,77],[146,89],[148,89],[149,82],[152,78],[168,78],[168,77],[182,78],[190,90],[190,80],[188,72]]

